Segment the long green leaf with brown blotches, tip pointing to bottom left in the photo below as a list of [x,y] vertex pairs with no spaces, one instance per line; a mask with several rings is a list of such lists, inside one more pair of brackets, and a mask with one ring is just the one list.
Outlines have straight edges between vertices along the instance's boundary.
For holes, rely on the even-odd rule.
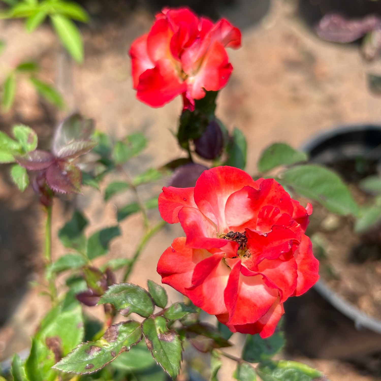
[[110,326],[101,339],[83,343],[54,368],[70,373],[93,373],[130,350],[142,337],[141,323],[132,320]]

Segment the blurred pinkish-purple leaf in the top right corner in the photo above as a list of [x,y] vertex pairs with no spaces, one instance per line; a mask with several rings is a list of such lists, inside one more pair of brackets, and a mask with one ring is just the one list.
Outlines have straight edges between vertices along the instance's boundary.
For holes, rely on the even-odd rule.
[[347,43],[358,40],[380,26],[381,19],[377,16],[347,19],[339,14],[328,13],[317,24],[316,32],[323,40]]

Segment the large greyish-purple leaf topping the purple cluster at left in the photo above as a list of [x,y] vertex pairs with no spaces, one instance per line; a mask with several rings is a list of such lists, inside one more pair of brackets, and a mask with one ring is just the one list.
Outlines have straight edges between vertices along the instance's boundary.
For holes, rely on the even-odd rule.
[[90,140],[94,131],[94,120],[86,119],[80,114],[73,114],[58,125],[53,138],[52,152],[58,152],[74,141]]

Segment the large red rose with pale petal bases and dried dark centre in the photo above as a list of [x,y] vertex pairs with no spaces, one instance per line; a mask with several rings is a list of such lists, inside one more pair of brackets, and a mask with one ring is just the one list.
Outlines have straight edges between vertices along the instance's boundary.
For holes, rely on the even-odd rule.
[[186,234],[160,257],[162,282],[232,332],[272,335],[283,302],[319,278],[304,234],[312,206],[303,208],[274,179],[212,168],[195,187],[164,187],[159,210]]

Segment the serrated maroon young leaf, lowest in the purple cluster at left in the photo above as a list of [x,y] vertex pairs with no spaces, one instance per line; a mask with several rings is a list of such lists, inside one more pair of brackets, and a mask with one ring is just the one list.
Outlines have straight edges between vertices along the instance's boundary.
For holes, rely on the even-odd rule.
[[46,170],[46,182],[53,191],[82,194],[82,172],[74,164],[56,161]]

